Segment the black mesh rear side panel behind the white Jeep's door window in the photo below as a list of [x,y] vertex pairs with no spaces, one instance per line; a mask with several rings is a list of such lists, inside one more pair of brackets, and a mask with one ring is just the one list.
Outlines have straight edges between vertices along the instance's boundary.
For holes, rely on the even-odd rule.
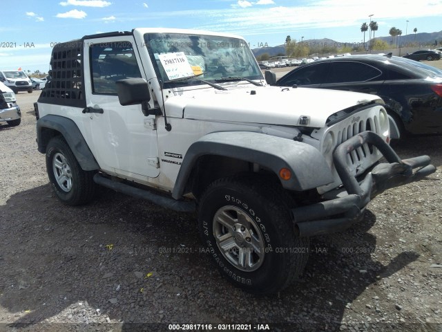
[[82,39],[57,44],[50,58],[50,80],[46,83],[38,102],[72,107],[86,107]]

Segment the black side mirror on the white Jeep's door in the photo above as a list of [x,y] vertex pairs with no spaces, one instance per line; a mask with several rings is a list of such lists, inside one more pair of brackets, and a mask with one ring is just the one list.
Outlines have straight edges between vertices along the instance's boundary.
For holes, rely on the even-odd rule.
[[151,100],[148,84],[142,78],[128,78],[115,83],[118,100],[122,106],[142,104]]

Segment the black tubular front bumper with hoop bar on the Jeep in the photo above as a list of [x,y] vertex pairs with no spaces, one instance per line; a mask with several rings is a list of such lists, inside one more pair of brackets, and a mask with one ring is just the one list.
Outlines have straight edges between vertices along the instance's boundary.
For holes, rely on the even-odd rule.
[[[376,165],[362,181],[358,181],[347,166],[347,154],[365,143],[376,147],[388,163]],[[343,142],[336,147],[333,159],[347,195],[292,209],[300,237],[345,230],[362,218],[369,201],[381,192],[419,181],[436,171],[436,167],[430,165],[429,156],[401,160],[392,147],[373,131],[363,131]]]

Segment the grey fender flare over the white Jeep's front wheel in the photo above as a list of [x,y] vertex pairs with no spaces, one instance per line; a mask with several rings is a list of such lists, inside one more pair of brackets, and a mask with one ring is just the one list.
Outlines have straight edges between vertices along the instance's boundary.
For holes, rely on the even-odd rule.
[[325,158],[311,145],[251,131],[216,132],[202,136],[186,151],[173,187],[174,199],[182,198],[195,163],[204,155],[257,163],[271,169],[277,176],[280,169],[290,169],[292,176],[289,180],[280,178],[282,187],[287,190],[304,191],[334,181]]

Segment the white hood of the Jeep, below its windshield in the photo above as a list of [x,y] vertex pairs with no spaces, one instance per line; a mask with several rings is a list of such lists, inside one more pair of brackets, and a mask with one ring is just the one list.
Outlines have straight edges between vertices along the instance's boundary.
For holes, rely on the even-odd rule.
[[376,99],[347,91],[247,86],[185,91],[166,100],[166,113],[195,120],[282,125],[297,125],[301,116],[309,116],[309,127],[324,127],[333,113]]

